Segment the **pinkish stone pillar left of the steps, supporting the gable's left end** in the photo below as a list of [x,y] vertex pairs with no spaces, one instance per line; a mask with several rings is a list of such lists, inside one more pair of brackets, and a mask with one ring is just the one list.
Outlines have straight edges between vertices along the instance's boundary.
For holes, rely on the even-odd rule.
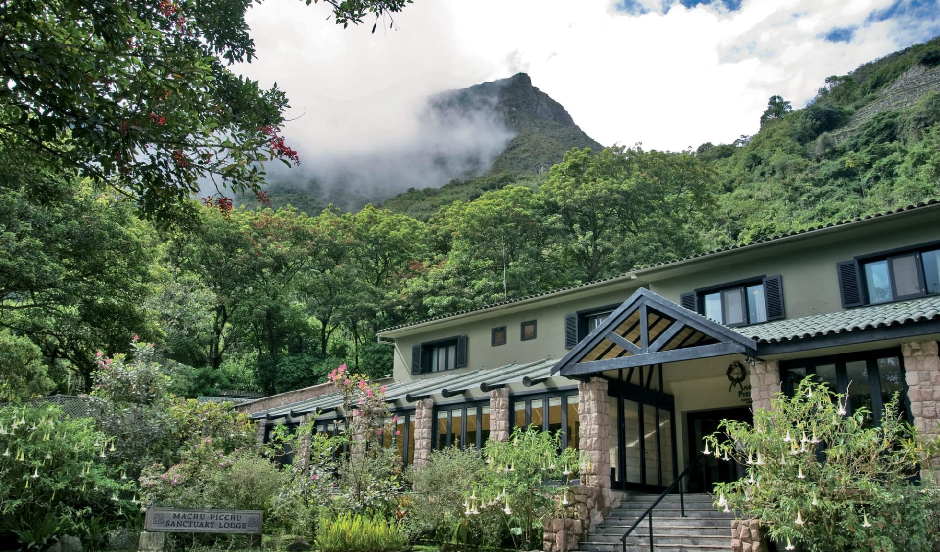
[[[581,484],[610,488],[610,416],[607,413],[607,380],[591,377],[578,383],[579,446],[589,466],[582,467]],[[587,468],[587,469],[584,469]]]

